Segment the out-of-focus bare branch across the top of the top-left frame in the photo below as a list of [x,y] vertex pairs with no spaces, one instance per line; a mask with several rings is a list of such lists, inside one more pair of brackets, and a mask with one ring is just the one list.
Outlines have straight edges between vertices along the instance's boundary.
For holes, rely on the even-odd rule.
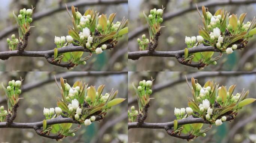
[[[76,6],[92,6],[92,5],[110,5],[110,4],[121,4],[121,3],[128,3],[128,0],[86,0],[86,1],[73,1],[70,3],[67,3],[67,7]],[[60,12],[61,10],[66,10],[65,4],[62,4],[59,7],[56,8],[50,8],[47,10],[44,10],[42,12],[37,12],[33,14],[33,22],[36,20],[39,20],[41,18],[44,18],[46,16],[51,16],[53,13]],[[4,36],[7,36],[8,34],[14,32],[17,30],[17,26],[9,26],[5,29],[3,29],[0,32],[0,39],[2,39]]]

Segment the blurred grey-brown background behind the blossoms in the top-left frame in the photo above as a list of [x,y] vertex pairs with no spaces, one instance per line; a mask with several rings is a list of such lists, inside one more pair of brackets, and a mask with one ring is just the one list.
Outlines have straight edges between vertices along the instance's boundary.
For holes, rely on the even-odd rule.
[[[1,0],[0,4],[0,51],[8,51],[9,47],[6,42],[7,38],[14,33],[18,35],[18,30],[15,28],[15,32],[3,35],[6,30],[12,29],[13,25],[16,25],[12,12],[17,15],[20,9],[24,7],[26,9],[31,8],[31,5],[35,7],[34,16],[40,17],[48,11],[55,11],[49,15],[34,19],[31,23],[31,34],[29,36],[29,42],[26,50],[28,51],[46,51],[53,50],[55,48],[54,37],[66,36],[68,33],[68,25],[72,25],[71,19],[65,9],[66,4],[73,4],[78,7],[80,13],[84,13],[87,9],[94,9],[100,13],[111,14],[117,13],[114,22],[128,18],[128,4],[122,2],[114,4],[115,0],[111,0],[112,3],[95,4],[92,6],[86,6],[88,2],[94,2],[99,0]],[[105,1],[105,0],[103,0]],[[110,1],[110,0],[107,0]],[[119,0],[118,0],[119,1]],[[56,10],[64,7],[62,10]],[[70,7],[68,7],[71,9]],[[37,17],[37,18],[38,18]],[[100,55],[95,55],[88,60],[87,64],[74,67],[72,71],[123,71],[127,69],[127,35],[120,39],[118,45],[112,50],[107,50]],[[84,53],[86,57],[88,53]],[[18,62],[17,62],[18,61]],[[63,67],[54,66],[49,64],[43,57],[11,57],[8,60],[0,60],[0,71],[67,71]],[[127,71],[127,70],[126,70]]]

